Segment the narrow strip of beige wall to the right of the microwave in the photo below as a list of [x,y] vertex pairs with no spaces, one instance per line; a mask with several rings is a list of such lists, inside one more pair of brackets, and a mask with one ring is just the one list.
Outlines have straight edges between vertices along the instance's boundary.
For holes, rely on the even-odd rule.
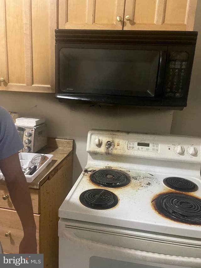
[[171,134],[201,136],[201,1],[198,1],[194,30],[198,31],[187,107],[173,112]]

